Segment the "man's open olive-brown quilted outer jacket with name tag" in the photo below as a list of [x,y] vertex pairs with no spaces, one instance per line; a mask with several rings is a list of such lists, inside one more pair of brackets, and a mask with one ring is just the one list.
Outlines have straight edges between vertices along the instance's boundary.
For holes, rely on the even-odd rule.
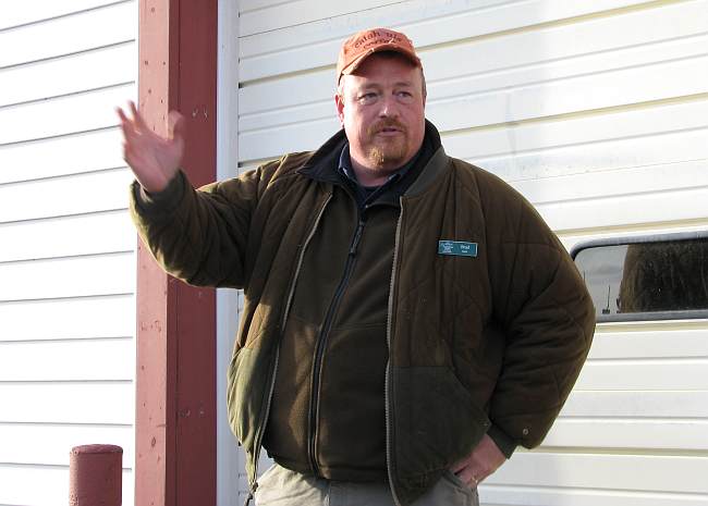
[[[183,173],[156,196],[133,187],[133,219],[168,272],[244,289],[228,403],[252,488],[298,262],[332,194],[302,170],[330,160],[342,138],[200,190]],[[541,442],[586,358],[595,311],[533,207],[442,147],[400,205],[382,280],[391,284],[384,402],[391,489],[407,505],[485,433],[508,455]],[[450,240],[468,254],[441,254]]]

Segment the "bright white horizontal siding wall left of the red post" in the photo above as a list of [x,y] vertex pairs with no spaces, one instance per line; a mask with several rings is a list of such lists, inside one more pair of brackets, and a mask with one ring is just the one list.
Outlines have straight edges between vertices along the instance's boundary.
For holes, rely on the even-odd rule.
[[0,505],[69,499],[69,453],[123,447],[133,504],[135,245],[115,106],[137,1],[0,7]]

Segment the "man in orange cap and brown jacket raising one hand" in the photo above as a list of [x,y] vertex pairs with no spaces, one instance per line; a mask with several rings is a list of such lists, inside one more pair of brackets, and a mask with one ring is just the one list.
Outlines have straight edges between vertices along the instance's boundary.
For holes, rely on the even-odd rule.
[[595,311],[532,206],[445,155],[405,35],[354,35],[337,78],[316,152],[199,190],[179,114],[162,139],[119,111],[133,218],[168,272],[244,288],[229,415],[257,505],[477,504],[549,430]]

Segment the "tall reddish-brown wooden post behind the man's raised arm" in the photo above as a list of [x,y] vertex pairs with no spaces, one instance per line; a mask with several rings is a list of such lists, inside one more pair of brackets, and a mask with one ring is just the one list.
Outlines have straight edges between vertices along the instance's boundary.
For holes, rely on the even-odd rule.
[[[138,107],[187,120],[184,170],[216,177],[217,0],[141,0]],[[216,504],[216,297],[137,254],[136,506]]]

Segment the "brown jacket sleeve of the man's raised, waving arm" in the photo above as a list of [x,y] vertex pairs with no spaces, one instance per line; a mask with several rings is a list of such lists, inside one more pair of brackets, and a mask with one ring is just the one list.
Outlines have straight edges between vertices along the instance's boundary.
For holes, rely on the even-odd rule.
[[159,194],[133,182],[131,218],[168,273],[193,285],[241,288],[251,217],[264,185],[260,169],[199,189],[179,171]]

